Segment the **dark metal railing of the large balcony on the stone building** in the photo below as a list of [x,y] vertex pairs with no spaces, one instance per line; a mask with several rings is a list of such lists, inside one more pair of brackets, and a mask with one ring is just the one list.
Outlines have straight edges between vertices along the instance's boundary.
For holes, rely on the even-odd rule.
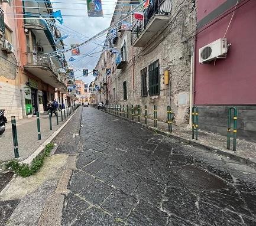
[[[151,21],[157,17],[157,19],[169,17],[171,14],[171,1],[170,0],[155,0],[154,3],[150,3],[147,9],[144,10],[144,20],[138,20],[132,28],[132,44],[140,38],[140,35],[144,30],[147,30]],[[160,27],[154,26],[153,31],[158,31]],[[151,31],[150,31],[151,32]],[[154,34],[154,32],[151,32]],[[150,37],[151,38],[151,37]],[[141,46],[141,45],[138,45]]]

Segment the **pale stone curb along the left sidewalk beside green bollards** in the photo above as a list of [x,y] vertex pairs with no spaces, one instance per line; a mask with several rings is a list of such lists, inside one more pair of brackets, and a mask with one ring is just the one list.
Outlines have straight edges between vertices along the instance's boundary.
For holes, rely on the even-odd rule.
[[67,123],[69,123],[69,121],[73,118],[74,114],[77,112],[79,108],[77,108],[74,113],[72,114],[72,116],[69,117],[69,119],[67,119],[66,122],[63,123],[62,126],[59,127],[59,129],[57,129],[50,137],[48,137],[48,139],[46,139],[46,141],[44,141],[30,156],[28,156],[27,159],[24,159],[23,161],[21,161],[21,163],[27,163],[28,165],[31,164],[31,162],[33,161],[33,159],[39,155],[44,148],[46,147],[46,145],[48,143],[51,143],[53,141],[53,139],[61,132],[61,130],[63,130],[63,128],[67,125]]

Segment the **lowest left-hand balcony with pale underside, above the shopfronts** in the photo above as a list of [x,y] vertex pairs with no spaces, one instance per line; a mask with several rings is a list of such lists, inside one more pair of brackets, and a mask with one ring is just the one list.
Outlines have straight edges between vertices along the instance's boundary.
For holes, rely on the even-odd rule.
[[64,76],[60,74],[51,58],[44,58],[43,54],[27,53],[27,64],[24,69],[40,78],[44,83],[50,84],[54,88],[67,90],[64,84]]

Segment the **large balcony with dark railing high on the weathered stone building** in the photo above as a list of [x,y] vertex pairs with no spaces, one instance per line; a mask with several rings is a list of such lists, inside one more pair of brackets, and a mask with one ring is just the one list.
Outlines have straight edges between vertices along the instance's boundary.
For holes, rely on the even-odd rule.
[[144,11],[144,20],[137,21],[132,28],[132,45],[145,47],[148,41],[163,28],[170,19],[171,1],[160,0],[150,4]]

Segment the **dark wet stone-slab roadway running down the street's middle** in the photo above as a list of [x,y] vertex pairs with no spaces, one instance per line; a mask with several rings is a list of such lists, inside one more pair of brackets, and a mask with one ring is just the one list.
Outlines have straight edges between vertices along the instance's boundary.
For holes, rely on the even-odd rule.
[[256,171],[83,107],[62,225],[256,225]]

